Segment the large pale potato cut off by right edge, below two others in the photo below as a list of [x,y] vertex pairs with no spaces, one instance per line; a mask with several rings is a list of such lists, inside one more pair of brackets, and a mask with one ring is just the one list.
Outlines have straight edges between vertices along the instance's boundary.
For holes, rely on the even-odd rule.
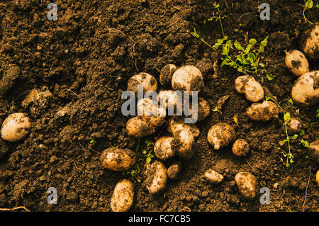
[[319,71],[308,72],[297,79],[291,90],[293,102],[301,107],[319,103]]

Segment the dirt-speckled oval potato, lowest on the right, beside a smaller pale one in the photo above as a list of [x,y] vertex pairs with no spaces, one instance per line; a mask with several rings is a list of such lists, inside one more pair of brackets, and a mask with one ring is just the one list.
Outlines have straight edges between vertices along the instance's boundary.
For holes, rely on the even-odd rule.
[[235,182],[246,198],[254,198],[256,196],[257,179],[250,172],[240,172],[235,176]]

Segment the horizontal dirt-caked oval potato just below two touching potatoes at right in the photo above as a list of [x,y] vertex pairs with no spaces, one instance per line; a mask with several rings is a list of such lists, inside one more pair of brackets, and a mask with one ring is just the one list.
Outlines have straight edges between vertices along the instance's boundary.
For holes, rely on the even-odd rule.
[[251,120],[267,122],[272,118],[278,118],[279,108],[272,101],[264,101],[252,103],[246,113]]

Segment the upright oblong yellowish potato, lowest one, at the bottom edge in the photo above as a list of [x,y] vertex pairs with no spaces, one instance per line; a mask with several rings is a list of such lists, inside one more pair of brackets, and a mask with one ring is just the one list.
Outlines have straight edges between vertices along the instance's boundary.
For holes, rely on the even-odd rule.
[[134,185],[131,181],[124,179],[116,184],[111,198],[111,209],[113,212],[127,212],[133,205]]

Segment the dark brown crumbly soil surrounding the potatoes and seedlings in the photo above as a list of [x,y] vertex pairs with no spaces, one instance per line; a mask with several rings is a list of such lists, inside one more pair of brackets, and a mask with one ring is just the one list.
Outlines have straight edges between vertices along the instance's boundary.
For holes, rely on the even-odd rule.
[[[260,42],[269,35],[261,60],[276,78],[269,81],[262,75],[255,79],[267,94],[281,101],[285,111],[300,118],[303,139],[313,142],[318,137],[318,106],[291,106],[296,77],[284,66],[284,50],[301,50],[303,33],[311,27],[303,19],[303,1],[270,1],[270,21],[259,18],[258,6],[263,1],[218,2],[220,13],[227,16],[224,32],[231,39],[245,43],[247,33]],[[203,72],[205,88],[200,96],[211,108],[222,96],[229,98],[222,113],[212,112],[197,123],[201,135],[194,157],[183,162],[178,179],[167,181],[167,188],[156,195],[148,193],[143,181],[135,182],[131,210],[319,210],[318,162],[306,157],[300,138],[291,141],[294,163],[289,169],[280,160],[278,147],[285,138],[282,113],[270,123],[252,122],[245,113],[249,101],[235,91],[235,78],[241,74],[220,67],[218,61],[217,77],[212,77],[216,52],[191,35],[196,28],[211,44],[222,37],[218,22],[204,23],[213,12],[212,1],[55,1],[57,21],[47,19],[49,3],[0,1],[0,123],[17,112],[28,113],[32,121],[25,140],[0,140],[0,208],[23,205],[32,211],[111,211],[113,188],[127,176],[103,169],[99,158],[107,147],[136,147],[137,140],[125,131],[129,117],[121,114],[121,94],[128,79],[147,72],[159,81],[164,65],[191,64]],[[319,21],[319,9],[314,6],[306,16],[309,21]],[[239,27],[242,32],[235,31]],[[310,69],[318,70],[318,62],[310,61]],[[33,89],[51,94],[22,105]],[[208,130],[219,122],[233,125],[237,138],[250,143],[247,157],[235,156],[231,146],[215,151],[208,144]],[[203,179],[210,168],[224,176],[221,184],[211,185]],[[239,171],[250,171],[258,189],[270,189],[269,205],[259,202],[259,190],[256,198],[243,198],[234,180]],[[57,188],[57,205],[47,204],[50,187]]]

